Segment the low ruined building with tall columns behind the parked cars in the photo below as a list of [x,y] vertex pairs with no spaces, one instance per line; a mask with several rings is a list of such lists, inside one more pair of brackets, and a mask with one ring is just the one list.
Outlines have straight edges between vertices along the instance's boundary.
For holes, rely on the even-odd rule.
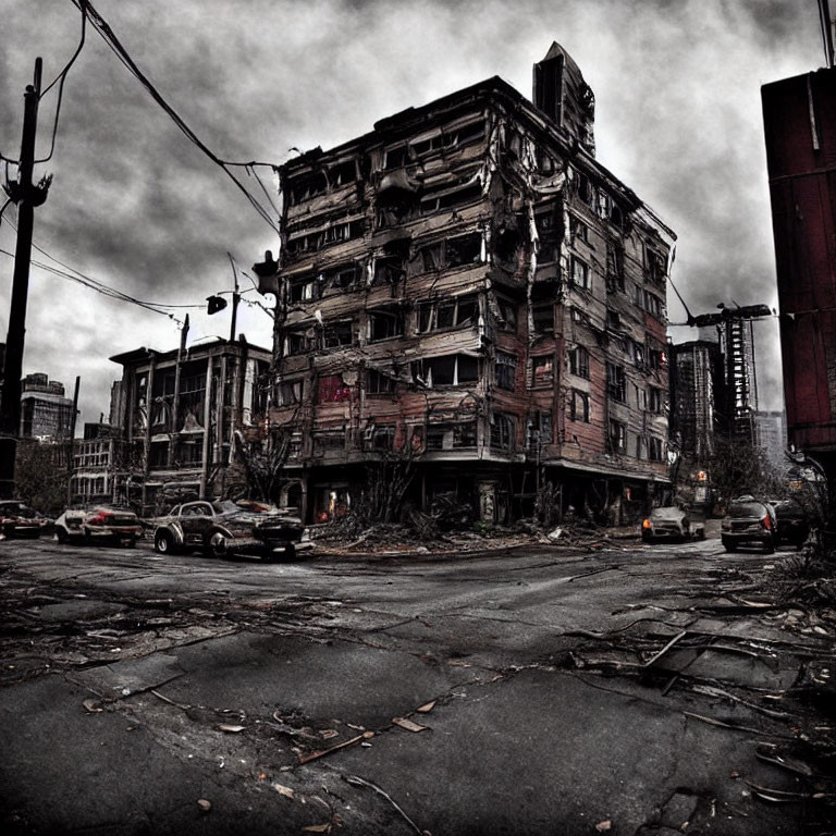
[[123,367],[111,406],[113,499],[147,513],[181,499],[245,495],[235,465],[266,432],[270,352],[213,340],[111,360]]

